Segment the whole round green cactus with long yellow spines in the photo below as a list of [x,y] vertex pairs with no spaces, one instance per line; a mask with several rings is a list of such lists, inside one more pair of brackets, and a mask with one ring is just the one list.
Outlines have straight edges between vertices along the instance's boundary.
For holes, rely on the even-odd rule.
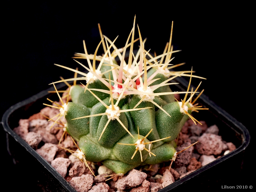
[[[116,39],[112,42],[100,30],[104,55],[97,56],[100,44],[94,55],[89,55],[84,42],[85,53],[77,53],[74,57],[86,59],[89,67],[75,61],[89,72],[85,74],[78,69],[57,65],[83,77],[52,83],[81,81],[83,86],[74,84],[69,89],[72,102],[67,100],[64,103],[60,98],[62,105],[57,104],[59,118],[65,116],[66,130],[79,143],[82,160],[102,162],[118,175],[140,165],[172,160],[176,156],[172,141],[189,117],[195,124],[198,122],[191,112],[204,109],[194,104],[196,100],[190,102],[199,87],[189,91],[191,78],[198,77],[192,75],[192,69],[190,74],[169,70],[172,68],[171,55],[175,52],[171,46],[172,32],[168,47],[160,56],[152,56],[144,49],[145,41],[142,41],[139,27],[138,33],[139,38],[134,40],[134,18],[124,48],[117,49],[114,44]],[[131,43],[128,44],[130,38]],[[133,45],[138,40],[140,47],[136,53]],[[130,52],[126,63],[125,52],[128,48]],[[114,51],[110,52],[112,49]],[[116,57],[119,57],[120,65]],[[97,69],[96,60],[100,62]],[[177,76],[190,76],[186,92],[172,92],[170,85],[175,83],[168,82]],[[86,84],[82,80],[86,80]],[[176,101],[174,94],[181,93],[185,94],[184,99]],[[188,93],[191,93],[189,98]]]

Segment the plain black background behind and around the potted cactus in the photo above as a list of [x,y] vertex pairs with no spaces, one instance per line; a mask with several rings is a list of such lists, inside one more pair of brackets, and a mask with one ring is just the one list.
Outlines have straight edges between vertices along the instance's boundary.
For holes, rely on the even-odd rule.
[[[173,21],[172,44],[174,50],[182,51],[173,54],[172,64],[186,62],[180,70],[191,70],[193,66],[196,75],[207,78],[201,85],[204,94],[244,124],[251,134],[243,175],[237,175],[241,183],[236,184],[252,185],[248,179],[252,172],[255,116],[251,75],[255,62],[249,60],[253,49],[251,6],[210,3],[185,6],[161,1],[5,4],[1,19],[1,115],[17,102],[49,88],[48,84],[59,80],[59,76],[72,76],[72,72],[53,64],[79,67],[71,57],[75,52],[83,52],[83,40],[88,53],[94,53],[100,42],[98,23],[111,40],[119,35],[116,46],[122,47],[136,14],[142,38],[147,38],[145,49],[161,54],[169,41]],[[12,173],[15,166],[5,149],[3,130],[1,143],[4,144],[2,161],[10,171],[6,172],[6,180],[9,180],[15,174]],[[232,177],[230,181],[227,178],[229,184],[235,185]]]

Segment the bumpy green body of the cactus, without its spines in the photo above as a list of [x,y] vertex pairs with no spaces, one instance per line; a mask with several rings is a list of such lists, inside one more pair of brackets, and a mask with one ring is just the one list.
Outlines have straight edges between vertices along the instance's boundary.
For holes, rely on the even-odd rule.
[[[157,84],[166,79],[161,74],[157,75],[155,78],[159,77],[161,79],[155,82]],[[102,89],[104,86],[97,80],[92,83],[92,85],[89,84],[88,88]],[[104,89],[108,88],[105,86]],[[159,92],[171,92],[171,89],[164,87]],[[133,138],[126,132],[117,119],[110,120],[100,138],[102,130],[108,122],[106,115],[72,120],[77,117],[106,112],[106,107],[89,93],[88,90],[84,93],[84,88],[80,86],[72,88],[71,97],[73,102],[68,103],[68,111],[65,117],[68,122],[67,131],[72,137],[79,141],[79,148],[85,154],[87,161],[102,162],[114,172],[124,174],[140,165],[158,164],[172,159],[176,151],[170,143],[172,140],[176,139],[187,118],[180,112],[180,105],[177,101],[170,102],[172,97],[155,97],[154,99],[171,117],[166,115],[161,109],[156,108],[151,102],[143,101],[136,108],[151,108],[123,112],[119,116],[120,121],[133,135]],[[95,91],[94,93],[100,97],[106,105],[109,106],[111,104],[108,94]],[[126,96],[126,98],[120,100],[118,103],[120,110],[134,108],[141,99],[139,95],[130,95],[129,97],[130,98]],[[116,100],[114,100],[114,104],[115,103]],[[138,135],[138,127],[140,135]],[[150,148],[150,151],[156,156],[149,156],[149,152],[144,149],[141,150],[142,161],[139,150],[133,159],[131,159],[136,150],[136,146],[122,145],[119,143],[135,144],[138,138],[143,139],[151,129],[153,129],[153,131],[147,136],[144,142],[159,140],[169,136],[171,136],[171,138],[145,145],[145,148]]]

